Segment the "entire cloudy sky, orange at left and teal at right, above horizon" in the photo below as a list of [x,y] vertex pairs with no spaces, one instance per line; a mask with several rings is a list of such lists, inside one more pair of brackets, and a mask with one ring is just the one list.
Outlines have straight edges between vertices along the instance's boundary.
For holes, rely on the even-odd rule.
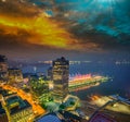
[[0,0],[0,53],[31,60],[128,57],[129,7],[130,0]]

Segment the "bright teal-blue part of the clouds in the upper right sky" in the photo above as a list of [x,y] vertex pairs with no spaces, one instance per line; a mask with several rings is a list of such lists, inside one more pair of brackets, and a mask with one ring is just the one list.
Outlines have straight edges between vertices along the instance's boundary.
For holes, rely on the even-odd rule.
[[[41,0],[32,1],[39,5]],[[41,3],[43,4],[43,1]],[[130,0],[50,0],[44,4],[52,7],[49,14],[56,15],[55,17],[63,15],[77,23],[75,26],[82,28],[77,29],[77,33],[95,30],[114,37],[120,34],[130,36]],[[56,11],[53,11],[53,8],[56,8]],[[70,29],[75,28],[73,24],[68,26]]]

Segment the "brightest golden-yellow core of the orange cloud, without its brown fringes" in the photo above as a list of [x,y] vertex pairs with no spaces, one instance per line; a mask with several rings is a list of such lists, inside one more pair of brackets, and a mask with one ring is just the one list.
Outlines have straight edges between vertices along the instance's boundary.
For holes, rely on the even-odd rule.
[[70,34],[51,22],[44,14],[31,19],[0,15],[0,25],[4,26],[2,28],[4,34],[18,35],[18,29],[23,29],[31,35],[27,38],[31,44],[67,48],[69,42],[75,42]]

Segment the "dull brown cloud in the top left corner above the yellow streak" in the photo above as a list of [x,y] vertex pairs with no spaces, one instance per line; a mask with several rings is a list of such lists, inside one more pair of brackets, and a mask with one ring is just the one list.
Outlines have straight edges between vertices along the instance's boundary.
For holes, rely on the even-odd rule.
[[38,14],[38,8],[23,1],[24,0],[0,0],[0,15],[31,17]]

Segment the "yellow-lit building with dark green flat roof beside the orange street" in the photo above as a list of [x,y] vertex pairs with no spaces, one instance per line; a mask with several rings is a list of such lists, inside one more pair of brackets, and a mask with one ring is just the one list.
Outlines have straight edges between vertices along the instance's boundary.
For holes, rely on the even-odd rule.
[[32,107],[27,100],[13,96],[6,99],[5,102],[11,122],[27,122],[34,118]]

